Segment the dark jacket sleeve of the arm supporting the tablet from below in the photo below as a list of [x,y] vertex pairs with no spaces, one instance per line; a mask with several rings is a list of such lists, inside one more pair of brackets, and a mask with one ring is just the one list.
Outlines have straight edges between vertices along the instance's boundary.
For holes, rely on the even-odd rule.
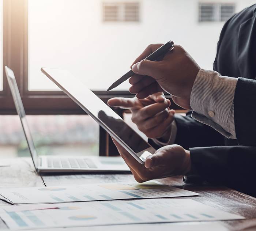
[[256,196],[256,147],[191,148],[192,169],[204,180]]

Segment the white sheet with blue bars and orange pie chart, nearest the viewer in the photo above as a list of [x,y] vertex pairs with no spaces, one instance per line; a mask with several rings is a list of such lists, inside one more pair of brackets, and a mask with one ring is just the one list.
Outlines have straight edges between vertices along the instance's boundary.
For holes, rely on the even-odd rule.
[[14,230],[244,219],[179,198],[5,206],[0,209],[0,217]]

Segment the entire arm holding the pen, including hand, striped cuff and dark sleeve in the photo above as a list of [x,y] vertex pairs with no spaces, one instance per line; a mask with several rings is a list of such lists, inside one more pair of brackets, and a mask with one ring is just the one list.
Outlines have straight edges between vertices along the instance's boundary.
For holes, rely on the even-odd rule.
[[[237,78],[221,76],[218,72],[201,69],[191,56],[181,47],[175,45],[172,52],[166,54],[161,61],[143,60],[148,53],[152,53],[159,45],[150,45],[136,60],[132,66],[133,75],[129,82],[132,84],[130,92],[137,94],[137,98],[144,98],[158,91],[166,91],[172,95],[173,101],[185,109],[195,111],[192,117],[200,122],[212,126],[222,135],[228,138],[238,138],[238,143],[245,142],[248,136],[255,136],[255,124],[247,126],[248,131],[236,134],[234,120],[237,113],[234,110],[245,109],[241,103],[234,105]],[[140,61],[141,60],[141,61]],[[181,68],[186,67],[186,68]],[[141,75],[141,76],[139,76]],[[241,80],[242,82],[242,80]],[[256,83],[249,80],[246,84],[240,84],[240,91],[236,91],[237,97],[248,100],[250,107],[255,102],[256,85],[251,84],[249,92],[245,86]],[[239,92],[239,93],[238,93]],[[244,97],[243,94],[246,93]],[[251,97],[250,97],[251,95]],[[251,110],[253,111],[253,109]],[[248,121],[254,121],[254,115],[247,115]],[[241,123],[241,122],[240,122]],[[249,123],[249,122],[248,122]],[[241,138],[242,137],[242,138]],[[243,139],[243,140],[240,140]],[[250,140],[249,145],[256,145],[256,141]]]

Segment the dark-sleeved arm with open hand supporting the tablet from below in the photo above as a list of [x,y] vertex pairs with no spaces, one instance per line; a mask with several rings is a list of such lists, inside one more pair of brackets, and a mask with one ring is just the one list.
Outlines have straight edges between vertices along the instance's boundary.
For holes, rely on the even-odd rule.
[[208,182],[256,196],[256,147],[200,147],[188,151],[180,145],[167,145],[149,155],[143,165],[117,141],[114,143],[138,182],[196,174]]

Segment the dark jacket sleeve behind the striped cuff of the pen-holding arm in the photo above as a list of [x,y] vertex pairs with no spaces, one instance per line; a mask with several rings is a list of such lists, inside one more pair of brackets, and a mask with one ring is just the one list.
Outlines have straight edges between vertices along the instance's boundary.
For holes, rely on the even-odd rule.
[[256,146],[255,102],[256,80],[238,78],[234,96],[234,121],[240,145]]

